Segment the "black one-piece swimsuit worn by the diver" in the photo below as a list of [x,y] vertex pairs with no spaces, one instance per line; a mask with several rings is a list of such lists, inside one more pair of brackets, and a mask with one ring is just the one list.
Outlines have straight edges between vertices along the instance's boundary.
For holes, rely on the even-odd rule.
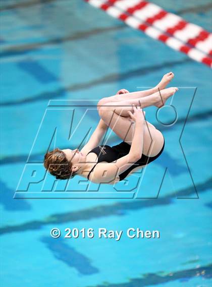
[[[138,161],[136,161],[133,165],[131,165],[128,169],[126,169],[124,171],[124,173],[119,175],[120,181],[123,181],[128,176],[128,174],[130,173],[130,171],[133,168],[140,166],[140,165],[146,165],[147,163],[150,163],[153,160],[155,160],[158,156],[160,156],[162,154],[162,152],[164,150],[164,146],[165,146],[165,140],[164,140],[164,145],[163,145],[161,151],[155,156],[148,157],[148,156],[142,154],[141,158]],[[93,148],[92,150],[90,150],[88,153],[94,152],[98,156],[97,163],[101,162],[101,161],[112,162],[114,160],[119,159],[122,156],[127,155],[130,151],[130,148],[131,148],[131,145],[129,145],[128,143],[123,141],[120,144],[114,145],[112,147],[109,145],[97,146],[97,147]],[[96,164],[89,171],[89,174],[87,176],[88,180],[89,180],[90,173],[93,171]]]

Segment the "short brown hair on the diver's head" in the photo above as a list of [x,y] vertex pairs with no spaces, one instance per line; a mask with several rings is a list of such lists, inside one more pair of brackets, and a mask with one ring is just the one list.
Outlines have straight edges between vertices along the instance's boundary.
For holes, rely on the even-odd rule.
[[74,177],[71,161],[68,161],[66,154],[59,148],[47,152],[43,164],[57,180],[67,180]]

